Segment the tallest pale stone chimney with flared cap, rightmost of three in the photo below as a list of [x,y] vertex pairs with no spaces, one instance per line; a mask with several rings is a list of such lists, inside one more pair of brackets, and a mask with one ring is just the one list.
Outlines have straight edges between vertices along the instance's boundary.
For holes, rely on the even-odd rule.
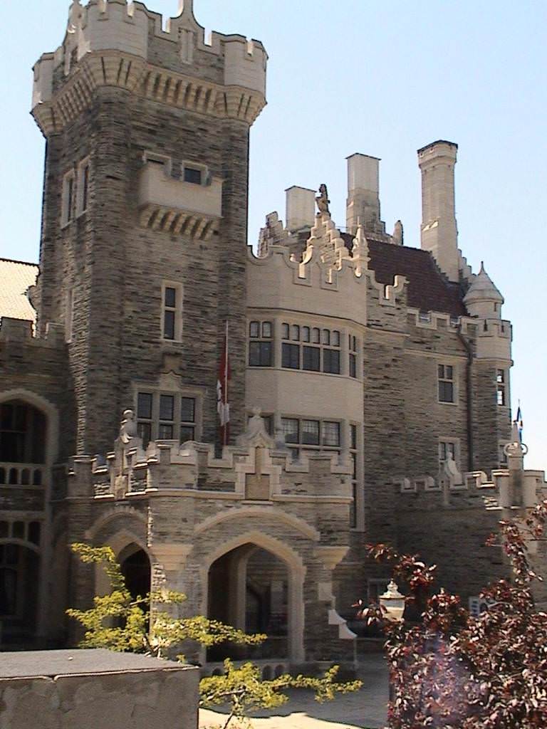
[[418,150],[422,171],[422,249],[429,251],[449,281],[459,281],[454,165],[458,145],[434,141]]

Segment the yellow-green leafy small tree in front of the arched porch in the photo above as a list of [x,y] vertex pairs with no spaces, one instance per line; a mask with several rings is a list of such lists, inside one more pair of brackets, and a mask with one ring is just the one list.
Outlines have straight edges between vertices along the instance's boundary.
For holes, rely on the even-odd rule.
[[[203,615],[176,618],[166,610],[158,609],[158,605],[181,604],[186,599],[182,593],[155,592],[133,599],[110,547],[74,544],[72,550],[85,564],[102,564],[111,586],[110,593],[93,598],[90,609],[66,611],[84,628],[85,634],[80,642],[82,648],[108,648],[166,658],[187,640],[210,647],[223,642],[253,645],[266,638],[262,634],[248,635]],[[176,658],[185,660],[183,655]],[[337,693],[348,693],[361,687],[360,681],[335,682],[338,666],[330,668],[321,678],[283,674],[275,679],[262,680],[260,668],[252,663],[236,667],[231,660],[225,660],[224,665],[224,675],[207,677],[200,682],[200,706],[225,703],[230,706],[224,729],[234,718],[241,720],[253,710],[272,709],[285,703],[288,697],[282,691],[288,688],[311,689],[315,691],[317,701],[330,701]]]

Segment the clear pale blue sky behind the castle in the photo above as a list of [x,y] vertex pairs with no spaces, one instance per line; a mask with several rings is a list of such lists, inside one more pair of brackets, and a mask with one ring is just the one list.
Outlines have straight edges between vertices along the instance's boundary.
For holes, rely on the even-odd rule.
[[[150,0],[176,15],[176,0]],[[28,115],[31,66],[63,39],[69,0],[0,4],[0,255],[36,261],[44,141]],[[194,0],[206,28],[263,41],[268,106],[252,130],[249,238],[284,190],[327,182],[344,225],[345,157],[381,157],[382,217],[419,245],[416,149],[459,144],[459,245],[513,321],[513,405],[527,466],[547,467],[544,0]]]

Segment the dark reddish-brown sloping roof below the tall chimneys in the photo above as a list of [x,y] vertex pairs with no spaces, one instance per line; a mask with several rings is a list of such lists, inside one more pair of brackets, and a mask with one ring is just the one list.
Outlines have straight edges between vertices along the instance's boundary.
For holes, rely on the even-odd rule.
[[[353,236],[342,233],[351,250]],[[395,276],[408,281],[408,306],[419,311],[439,311],[450,316],[466,316],[462,289],[443,276],[435,260],[427,251],[393,243],[368,240],[368,264],[376,273],[379,284],[392,285]]]

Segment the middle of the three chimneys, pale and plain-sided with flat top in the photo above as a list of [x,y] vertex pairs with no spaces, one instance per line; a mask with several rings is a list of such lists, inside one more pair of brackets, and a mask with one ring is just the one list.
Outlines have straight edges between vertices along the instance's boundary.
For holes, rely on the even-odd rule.
[[348,160],[346,230],[355,235],[359,223],[365,233],[385,233],[380,220],[378,157],[356,153]]

